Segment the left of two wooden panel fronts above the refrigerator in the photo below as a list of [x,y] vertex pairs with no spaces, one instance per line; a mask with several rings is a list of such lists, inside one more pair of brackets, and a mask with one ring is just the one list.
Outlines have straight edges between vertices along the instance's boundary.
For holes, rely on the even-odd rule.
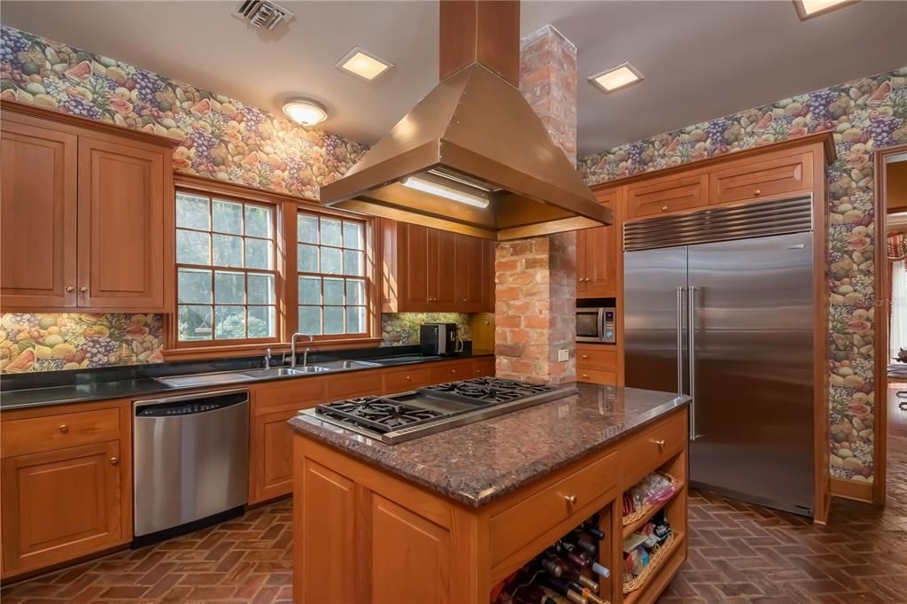
[[708,204],[708,174],[647,180],[627,187],[629,218],[670,214]]

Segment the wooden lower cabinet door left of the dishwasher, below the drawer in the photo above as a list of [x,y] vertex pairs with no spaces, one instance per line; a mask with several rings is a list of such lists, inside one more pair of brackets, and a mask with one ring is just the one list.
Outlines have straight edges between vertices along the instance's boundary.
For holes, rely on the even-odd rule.
[[4,575],[105,550],[129,538],[120,441],[7,457],[2,464]]

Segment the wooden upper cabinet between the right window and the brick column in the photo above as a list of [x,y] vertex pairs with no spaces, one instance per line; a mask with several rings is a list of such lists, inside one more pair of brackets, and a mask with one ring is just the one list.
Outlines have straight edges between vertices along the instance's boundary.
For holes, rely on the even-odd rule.
[[494,242],[381,221],[385,312],[493,312]]

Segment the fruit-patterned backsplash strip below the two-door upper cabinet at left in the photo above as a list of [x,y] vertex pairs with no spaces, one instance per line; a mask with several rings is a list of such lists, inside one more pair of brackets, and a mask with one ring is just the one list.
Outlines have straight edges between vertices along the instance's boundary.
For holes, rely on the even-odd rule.
[[160,363],[162,320],[151,314],[5,313],[0,373]]

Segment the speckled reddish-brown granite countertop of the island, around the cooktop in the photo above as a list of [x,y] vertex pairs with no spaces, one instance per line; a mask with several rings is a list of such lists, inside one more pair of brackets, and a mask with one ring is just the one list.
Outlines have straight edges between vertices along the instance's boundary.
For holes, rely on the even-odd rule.
[[470,507],[513,492],[689,403],[672,393],[577,384],[578,393],[394,445],[297,415],[300,434]]

